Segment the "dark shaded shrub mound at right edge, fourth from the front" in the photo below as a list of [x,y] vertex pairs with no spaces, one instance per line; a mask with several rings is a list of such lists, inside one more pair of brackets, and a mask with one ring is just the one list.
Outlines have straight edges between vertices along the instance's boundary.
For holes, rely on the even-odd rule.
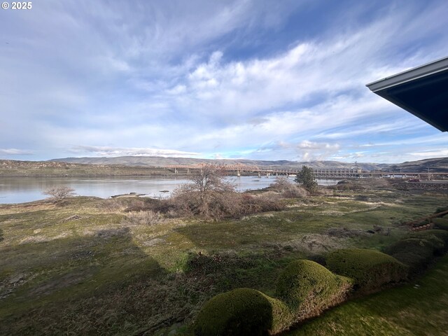
[[426,230],[415,232],[405,239],[386,248],[386,253],[409,267],[411,273],[425,269],[434,255],[447,251],[448,232],[444,230]]

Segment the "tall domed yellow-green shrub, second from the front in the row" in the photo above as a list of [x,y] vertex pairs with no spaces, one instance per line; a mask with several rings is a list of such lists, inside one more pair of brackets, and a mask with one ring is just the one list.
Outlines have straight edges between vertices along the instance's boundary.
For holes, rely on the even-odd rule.
[[295,260],[279,276],[276,296],[297,313],[296,318],[301,318],[342,302],[350,289],[350,279],[333,274],[317,262]]

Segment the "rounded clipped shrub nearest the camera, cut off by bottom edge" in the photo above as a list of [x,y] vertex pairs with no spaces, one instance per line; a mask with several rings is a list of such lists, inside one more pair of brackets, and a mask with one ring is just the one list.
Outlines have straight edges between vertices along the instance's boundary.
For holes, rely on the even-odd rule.
[[195,323],[197,336],[269,335],[292,323],[283,302],[258,290],[237,288],[212,297]]

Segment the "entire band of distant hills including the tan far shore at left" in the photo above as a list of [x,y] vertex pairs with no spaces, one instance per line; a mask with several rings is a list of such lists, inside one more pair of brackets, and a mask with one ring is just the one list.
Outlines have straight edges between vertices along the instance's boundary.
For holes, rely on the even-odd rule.
[[169,176],[174,174],[164,167],[170,165],[248,165],[267,169],[300,169],[307,165],[314,169],[358,168],[367,172],[448,172],[448,158],[433,158],[388,165],[368,162],[288,160],[207,160],[194,158],[161,158],[155,156],[123,156],[118,158],[63,158],[48,161],[0,160],[0,176]]

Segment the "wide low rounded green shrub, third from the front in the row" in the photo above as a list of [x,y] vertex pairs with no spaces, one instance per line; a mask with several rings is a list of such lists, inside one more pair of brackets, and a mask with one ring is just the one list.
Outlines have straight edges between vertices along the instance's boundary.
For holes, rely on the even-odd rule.
[[327,256],[332,272],[348,276],[360,291],[376,290],[386,283],[396,283],[407,277],[407,267],[379,251],[344,248]]

